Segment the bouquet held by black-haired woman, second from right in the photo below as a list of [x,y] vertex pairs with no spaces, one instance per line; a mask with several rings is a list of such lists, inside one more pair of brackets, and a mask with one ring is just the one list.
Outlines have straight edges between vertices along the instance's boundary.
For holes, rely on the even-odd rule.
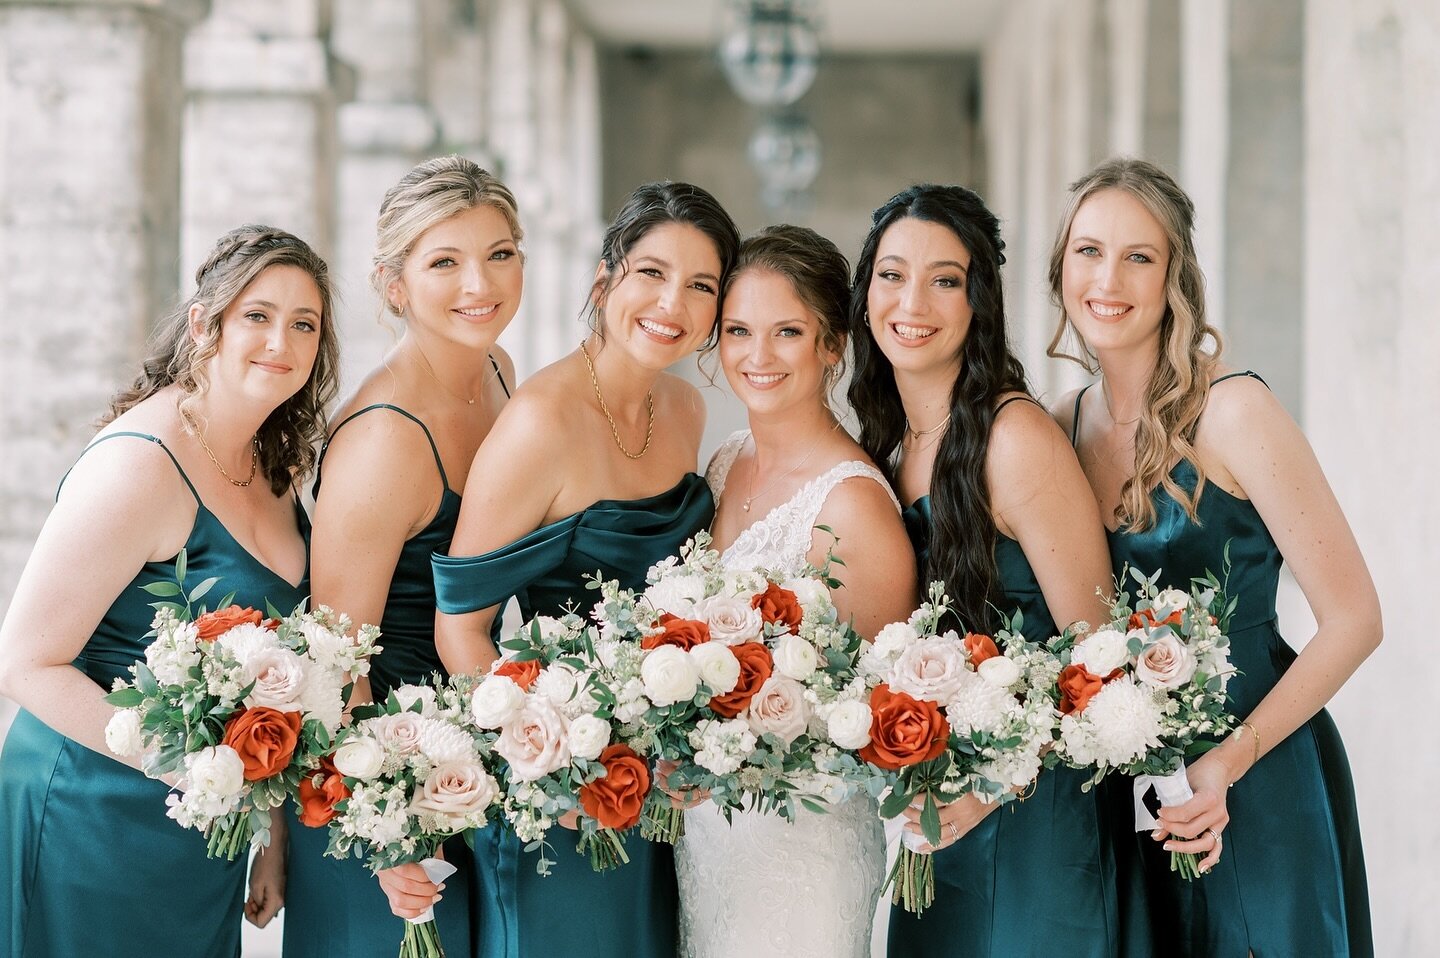
[[[906,622],[887,625],[860,663],[870,693],[868,742],[860,755],[887,776],[880,814],[922,801],[920,830],[940,843],[940,801],[973,794],[1009,801],[1031,784],[1054,740],[1051,699],[1060,663],[1025,640],[1017,617],[995,638],[940,631],[949,609],[942,582]],[[998,641],[996,641],[998,640]],[[923,913],[935,902],[935,864],[903,836],[890,872],[891,900]]]

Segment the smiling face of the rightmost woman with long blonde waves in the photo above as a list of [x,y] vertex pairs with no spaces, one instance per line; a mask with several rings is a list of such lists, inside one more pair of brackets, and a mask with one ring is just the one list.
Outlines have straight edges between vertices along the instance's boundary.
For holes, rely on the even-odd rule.
[[1135,196],[1109,189],[1080,205],[1066,239],[1061,298],[1092,352],[1156,349],[1168,267],[1165,229]]

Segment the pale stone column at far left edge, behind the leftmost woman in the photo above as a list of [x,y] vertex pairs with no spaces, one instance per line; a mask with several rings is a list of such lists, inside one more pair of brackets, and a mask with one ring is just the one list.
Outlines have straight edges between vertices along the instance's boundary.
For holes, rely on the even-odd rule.
[[0,1],[0,614],[174,305],[192,0]]

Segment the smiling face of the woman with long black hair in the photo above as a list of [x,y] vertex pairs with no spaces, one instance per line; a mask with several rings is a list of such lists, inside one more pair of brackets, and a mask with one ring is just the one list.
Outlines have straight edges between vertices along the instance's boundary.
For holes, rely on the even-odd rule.
[[959,370],[971,330],[971,252],[949,228],[907,216],[876,246],[870,333],[896,373]]

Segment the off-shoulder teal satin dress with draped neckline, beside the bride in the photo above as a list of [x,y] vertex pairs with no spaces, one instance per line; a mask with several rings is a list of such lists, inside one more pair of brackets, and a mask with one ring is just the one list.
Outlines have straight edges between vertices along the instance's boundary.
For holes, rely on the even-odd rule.
[[[472,612],[516,596],[527,619],[560,615],[570,605],[586,614],[598,595],[585,588],[586,575],[642,588],[649,566],[678,553],[713,516],[710,487],[690,473],[660,496],[600,500],[482,556],[436,555],[439,609]],[[559,861],[550,877],[540,877],[536,857],[513,833],[477,834],[477,955],[674,958],[678,892],[670,846],[631,834],[629,864],[596,873],[573,851],[573,833],[556,828],[550,840]]]

